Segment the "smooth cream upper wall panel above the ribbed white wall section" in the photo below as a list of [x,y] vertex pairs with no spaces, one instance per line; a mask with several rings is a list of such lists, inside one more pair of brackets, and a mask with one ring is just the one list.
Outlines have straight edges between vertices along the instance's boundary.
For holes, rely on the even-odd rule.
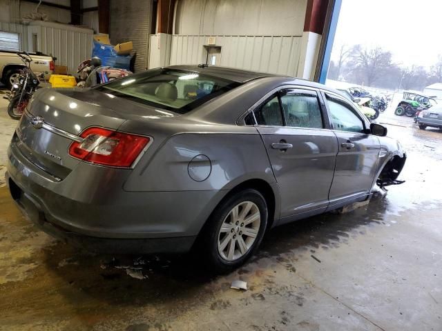
[[296,35],[307,0],[179,0],[175,34]]

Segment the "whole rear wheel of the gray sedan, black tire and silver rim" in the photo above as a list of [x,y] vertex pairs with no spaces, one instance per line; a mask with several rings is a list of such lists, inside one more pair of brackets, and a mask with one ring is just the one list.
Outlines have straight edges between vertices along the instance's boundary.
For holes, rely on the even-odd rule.
[[201,234],[200,249],[209,267],[225,273],[247,261],[264,237],[267,218],[267,203],[257,190],[242,190],[222,201]]

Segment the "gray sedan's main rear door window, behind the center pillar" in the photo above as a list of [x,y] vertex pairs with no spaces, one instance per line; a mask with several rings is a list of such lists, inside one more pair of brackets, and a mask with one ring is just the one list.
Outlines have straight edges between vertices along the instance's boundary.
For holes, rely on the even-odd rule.
[[323,117],[316,93],[285,90],[281,94],[282,110],[287,126],[323,128]]

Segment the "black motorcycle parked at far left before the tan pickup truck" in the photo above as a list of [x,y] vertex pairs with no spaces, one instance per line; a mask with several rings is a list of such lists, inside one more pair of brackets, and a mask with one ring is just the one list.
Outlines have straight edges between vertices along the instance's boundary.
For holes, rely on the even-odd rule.
[[[23,54],[26,54],[23,55]],[[12,84],[12,88],[7,97],[4,99],[8,99],[8,115],[12,119],[20,119],[23,114],[26,106],[35,90],[39,86],[39,79],[44,79],[44,74],[47,72],[42,72],[37,76],[35,72],[30,68],[30,63],[32,62],[32,58],[28,54],[28,52],[24,52],[23,54],[17,52],[17,55],[21,58],[21,61],[25,63],[25,67],[21,70],[19,77],[16,79],[15,83]]]

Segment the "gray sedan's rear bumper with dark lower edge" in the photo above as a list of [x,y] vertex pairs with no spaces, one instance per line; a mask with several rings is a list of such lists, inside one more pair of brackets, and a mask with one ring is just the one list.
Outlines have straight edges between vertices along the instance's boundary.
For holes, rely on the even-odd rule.
[[[93,185],[78,175],[75,181],[47,183],[14,146],[7,168],[11,195],[33,223],[97,252],[186,252],[224,195],[215,190],[125,192],[121,183],[111,185],[100,176]],[[84,191],[86,186],[93,190]]]

